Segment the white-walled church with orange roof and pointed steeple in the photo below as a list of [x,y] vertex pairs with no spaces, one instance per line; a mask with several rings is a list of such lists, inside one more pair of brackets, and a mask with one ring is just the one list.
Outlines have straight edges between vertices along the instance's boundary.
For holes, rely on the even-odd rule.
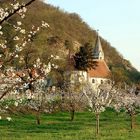
[[93,86],[110,83],[110,70],[104,59],[104,52],[99,35],[97,35],[95,47],[93,48],[93,60],[97,62],[97,66],[94,69],[92,68],[88,71],[71,71],[71,83],[74,84],[76,81],[86,81],[91,83]]

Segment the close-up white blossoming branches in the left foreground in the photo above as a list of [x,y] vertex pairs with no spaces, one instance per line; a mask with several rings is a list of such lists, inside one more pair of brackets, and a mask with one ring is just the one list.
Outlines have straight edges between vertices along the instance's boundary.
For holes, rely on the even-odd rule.
[[[51,70],[50,63],[42,63],[40,58],[37,58],[30,66],[27,65],[27,61],[22,54],[22,50],[33,42],[34,36],[42,28],[48,28],[49,25],[45,21],[40,21],[39,26],[31,25],[31,29],[26,30],[22,20],[9,21],[13,15],[19,15],[23,19],[27,6],[34,1],[29,0],[22,3],[15,0],[8,3],[8,6],[0,7],[1,101],[6,99],[7,94],[19,94],[19,89],[25,89],[27,98],[31,99],[36,83],[46,78]],[[7,26],[11,30],[11,34],[8,34]],[[22,63],[23,67],[17,70],[13,65],[14,61]],[[18,105],[18,102],[15,101],[15,104]]]

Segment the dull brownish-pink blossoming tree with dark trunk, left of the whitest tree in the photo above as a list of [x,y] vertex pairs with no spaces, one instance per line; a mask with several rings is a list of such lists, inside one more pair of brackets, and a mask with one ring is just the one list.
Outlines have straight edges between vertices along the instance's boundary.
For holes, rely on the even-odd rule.
[[73,121],[75,112],[82,110],[86,106],[82,85],[77,81],[72,83],[72,81],[70,82],[65,79],[61,93],[63,93],[65,109],[70,112],[70,120]]

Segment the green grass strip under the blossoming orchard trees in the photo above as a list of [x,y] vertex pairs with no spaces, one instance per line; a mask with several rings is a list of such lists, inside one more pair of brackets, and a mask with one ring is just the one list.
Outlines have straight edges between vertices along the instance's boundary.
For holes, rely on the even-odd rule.
[[95,118],[89,112],[78,112],[73,122],[69,113],[42,114],[41,125],[33,115],[12,116],[12,121],[0,120],[0,140],[139,140],[140,117],[130,130],[125,113],[108,110],[100,118],[100,135],[95,135]]

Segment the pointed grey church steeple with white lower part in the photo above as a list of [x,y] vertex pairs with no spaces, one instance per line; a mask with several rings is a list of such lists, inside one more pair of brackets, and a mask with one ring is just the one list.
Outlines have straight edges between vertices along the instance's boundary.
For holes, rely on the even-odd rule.
[[97,33],[95,48],[93,49],[93,57],[94,59],[97,59],[97,60],[104,60],[104,52],[102,49],[100,36],[98,35],[98,33]]

